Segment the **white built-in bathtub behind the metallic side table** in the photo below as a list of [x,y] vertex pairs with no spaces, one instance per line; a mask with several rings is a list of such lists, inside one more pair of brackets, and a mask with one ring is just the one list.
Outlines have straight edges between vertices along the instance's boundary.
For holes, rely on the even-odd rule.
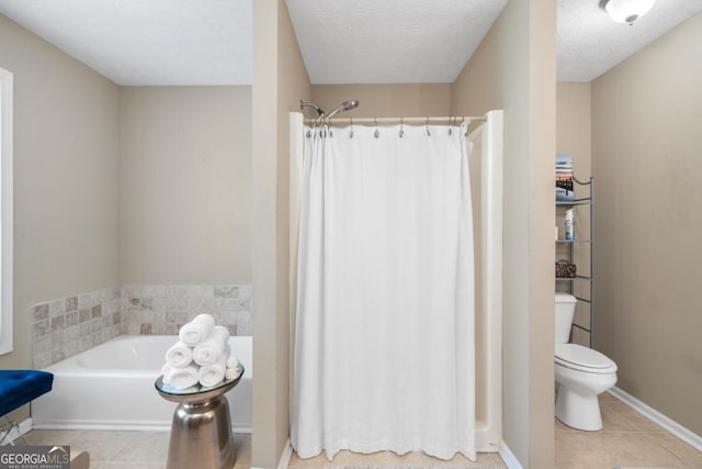
[[[178,404],[154,388],[174,335],[122,335],[45,368],[54,388],[32,403],[34,428],[169,429]],[[245,367],[225,395],[234,432],[251,432],[251,337],[230,337]]]

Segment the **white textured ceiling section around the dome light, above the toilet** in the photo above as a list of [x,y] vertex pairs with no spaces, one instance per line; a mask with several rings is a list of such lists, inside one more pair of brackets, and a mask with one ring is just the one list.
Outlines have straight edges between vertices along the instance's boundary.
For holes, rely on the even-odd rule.
[[700,11],[702,0],[658,0],[630,26],[598,0],[558,0],[558,81],[590,81]]

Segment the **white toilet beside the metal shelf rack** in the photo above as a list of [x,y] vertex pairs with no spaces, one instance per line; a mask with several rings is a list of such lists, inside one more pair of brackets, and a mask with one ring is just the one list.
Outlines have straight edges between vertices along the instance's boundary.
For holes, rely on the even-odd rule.
[[568,344],[577,300],[556,293],[556,417],[587,431],[602,429],[598,394],[616,382],[616,364],[588,347]]

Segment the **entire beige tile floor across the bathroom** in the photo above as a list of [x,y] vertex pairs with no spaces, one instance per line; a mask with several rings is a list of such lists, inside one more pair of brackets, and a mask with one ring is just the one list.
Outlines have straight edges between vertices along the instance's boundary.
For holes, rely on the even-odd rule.
[[[702,453],[667,433],[609,393],[600,397],[604,429],[579,432],[556,420],[557,469],[612,469],[615,466],[638,468],[702,469]],[[70,445],[71,454],[90,453],[91,469],[165,469],[168,432],[117,431],[32,431],[25,435],[34,445]],[[249,469],[250,435],[235,435],[237,465]],[[415,466],[485,467],[507,466],[497,454],[480,454],[472,462],[461,456],[442,461],[423,454],[394,453],[359,455],[340,451],[332,461],[324,456],[299,459],[293,455],[290,469],[321,469],[325,466]]]

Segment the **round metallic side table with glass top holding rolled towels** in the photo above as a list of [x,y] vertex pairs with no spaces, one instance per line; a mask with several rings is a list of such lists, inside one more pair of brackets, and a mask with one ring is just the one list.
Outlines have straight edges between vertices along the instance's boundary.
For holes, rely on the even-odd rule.
[[237,386],[244,375],[212,388],[194,386],[176,389],[154,383],[161,398],[177,402],[171,424],[166,469],[231,469],[237,460],[231,437],[229,403],[225,392]]

